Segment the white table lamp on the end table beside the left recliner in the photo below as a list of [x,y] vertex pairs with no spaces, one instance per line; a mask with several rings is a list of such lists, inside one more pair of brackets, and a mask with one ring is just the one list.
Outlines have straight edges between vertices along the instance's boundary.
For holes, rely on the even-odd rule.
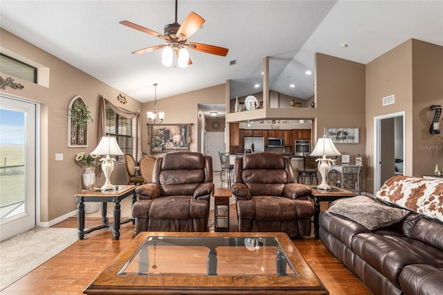
[[93,150],[91,154],[106,156],[105,158],[100,159],[102,162],[102,170],[106,177],[102,190],[114,190],[114,185],[111,184],[110,178],[112,171],[114,171],[114,161],[116,161],[116,159],[111,158],[110,155],[123,154],[120,147],[118,147],[116,138],[111,136],[103,136],[100,143],[98,143],[96,149]]

